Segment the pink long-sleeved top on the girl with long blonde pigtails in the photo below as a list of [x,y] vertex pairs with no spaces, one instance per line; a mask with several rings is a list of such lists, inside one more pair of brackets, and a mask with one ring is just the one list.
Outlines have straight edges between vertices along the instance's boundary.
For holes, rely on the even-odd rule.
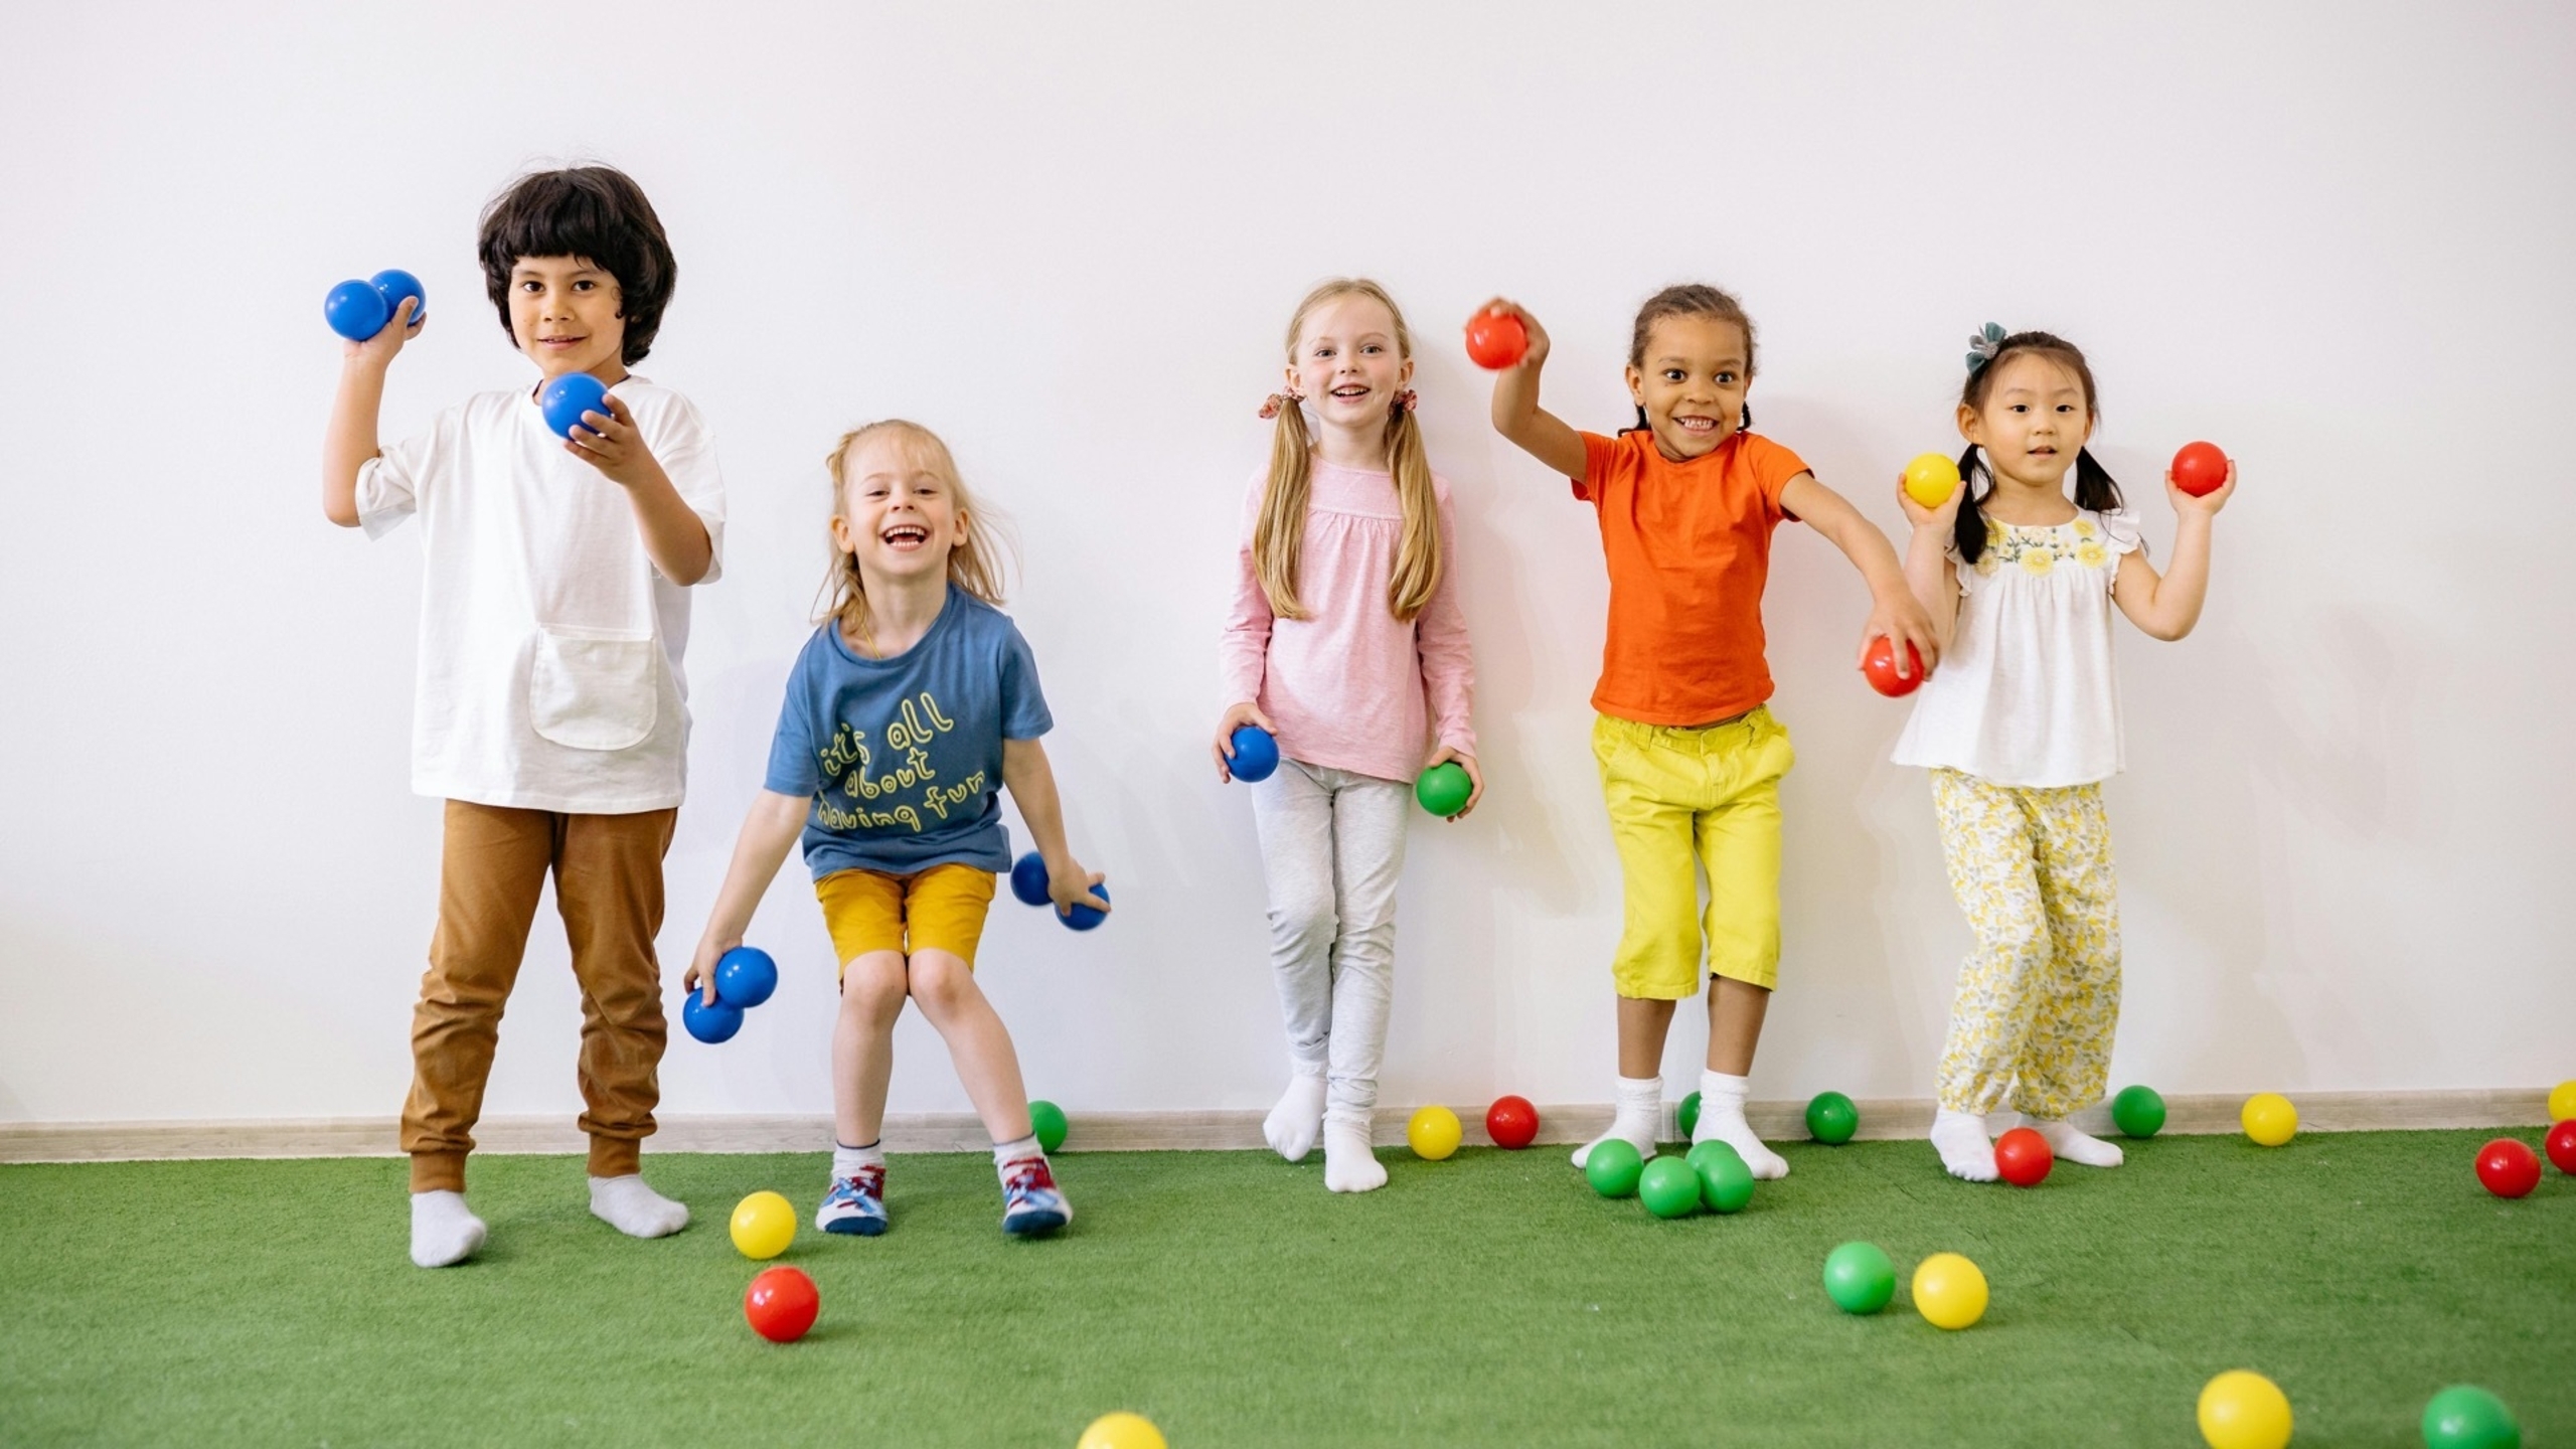
[[1409,781],[1435,745],[1476,753],[1468,709],[1476,663],[1458,608],[1458,534],[1448,480],[1432,477],[1440,508],[1440,583],[1412,621],[1386,608],[1386,580],[1404,547],[1396,480],[1316,459],[1298,549],[1306,619],[1278,619],[1252,567],[1252,529],[1270,469],[1244,495],[1234,557],[1234,606],[1218,645],[1226,704],[1252,699],[1278,727],[1280,753],[1309,766]]

